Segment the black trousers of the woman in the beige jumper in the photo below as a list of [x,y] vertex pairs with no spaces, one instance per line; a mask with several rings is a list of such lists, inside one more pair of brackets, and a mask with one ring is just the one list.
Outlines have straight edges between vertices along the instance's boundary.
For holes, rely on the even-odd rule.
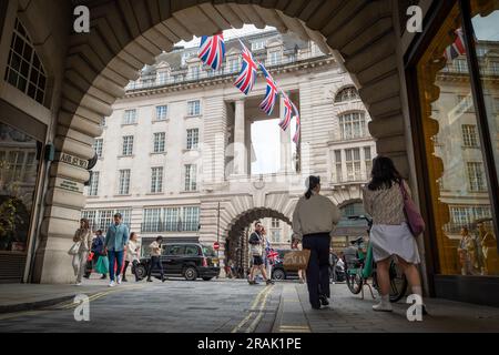
[[307,234],[303,237],[303,248],[310,251],[307,286],[308,297],[314,307],[320,306],[319,296],[330,297],[329,246],[329,233]]

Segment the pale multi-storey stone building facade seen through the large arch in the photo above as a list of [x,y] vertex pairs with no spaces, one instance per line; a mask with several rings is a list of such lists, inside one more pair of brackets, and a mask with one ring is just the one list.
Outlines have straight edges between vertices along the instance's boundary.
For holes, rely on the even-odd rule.
[[[163,53],[128,87],[95,141],[99,159],[83,211],[94,230],[105,230],[120,212],[144,246],[157,235],[218,241],[226,258],[244,263],[248,225],[256,220],[267,222],[277,247],[287,247],[294,204],[309,174],[322,176],[323,192],[342,207],[358,205],[376,145],[349,75],[313,42],[291,34],[267,31],[243,41],[298,106],[301,143],[292,142],[293,121],[279,133],[279,169],[252,171],[251,126],[278,119],[283,105],[271,116],[259,110],[262,75],[248,97],[233,85],[241,69],[236,40],[227,41],[217,72],[202,65],[197,48]],[[277,123],[274,129],[281,130]],[[345,241],[358,231],[340,230]]]

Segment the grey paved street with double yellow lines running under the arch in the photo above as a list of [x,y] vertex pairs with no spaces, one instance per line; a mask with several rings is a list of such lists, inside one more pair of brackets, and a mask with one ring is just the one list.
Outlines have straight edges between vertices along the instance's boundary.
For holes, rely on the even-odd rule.
[[[345,284],[332,285],[332,304],[312,310],[306,285],[295,281],[251,286],[244,280],[169,280],[108,287],[100,280],[74,285],[0,285],[1,332],[161,333],[436,333],[499,332],[499,308],[426,300],[429,316],[409,322],[408,304],[375,313]],[[89,301],[89,321],[75,295]],[[77,314],[77,317],[75,317]],[[81,318],[81,317],[80,317]]]

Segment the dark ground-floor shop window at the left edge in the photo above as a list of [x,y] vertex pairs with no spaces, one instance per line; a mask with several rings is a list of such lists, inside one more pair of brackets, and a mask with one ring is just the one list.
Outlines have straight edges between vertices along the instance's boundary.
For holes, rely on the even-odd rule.
[[[28,252],[39,146],[31,136],[0,123],[0,254],[7,255],[2,261]],[[12,264],[0,270],[0,280],[22,277],[18,268],[19,267]]]

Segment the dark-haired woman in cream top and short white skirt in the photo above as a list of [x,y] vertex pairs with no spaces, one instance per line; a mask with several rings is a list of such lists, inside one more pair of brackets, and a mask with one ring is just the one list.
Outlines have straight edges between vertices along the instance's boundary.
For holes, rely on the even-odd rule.
[[[416,264],[420,263],[419,252],[404,213],[401,189],[405,189],[410,195],[409,187],[398,173],[394,162],[386,156],[376,158],[373,164],[371,181],[364,189],[364,206],[373,217],[369,241],[377,265],[381,296],[380,303],[373,306],[374,311],[393,311],[389,302],[389,265],[393,256],[397,257],[403,267],[413,294],[422,296],[419,271],[416,267]],[[422,312],[426,313],[425,307],[422,307]]]

